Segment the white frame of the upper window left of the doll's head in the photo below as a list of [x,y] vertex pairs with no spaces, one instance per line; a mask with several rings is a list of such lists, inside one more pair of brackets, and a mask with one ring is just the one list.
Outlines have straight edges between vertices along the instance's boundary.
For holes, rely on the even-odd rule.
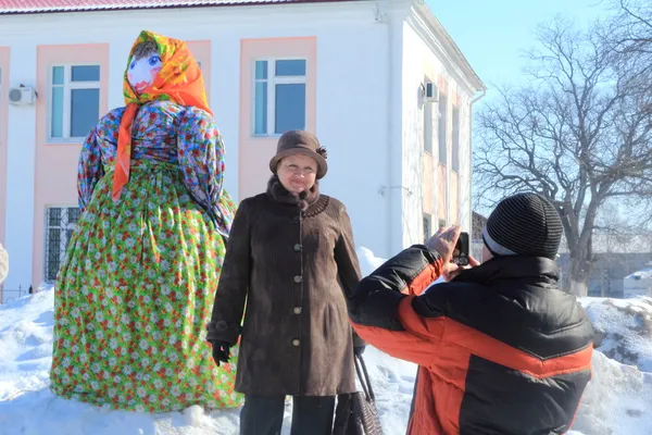
[[[58,66],[63,66],[63,85],[54,85],[54,69]],[[73,89],[99,89],[100,99],[102,88],[100,86],[100,82],[72,82],[72,71],[73,66],[99,66],[100,74],[102,73],[102,66],[97,62],[90,63],[58,63],[50,65],[50,71],[48,74],[49,78],[49,96],[50,100],[48,101],[48,144],[82,144],[86,139],[83,137],[74,137],[71,136],[72,123],[71,123],[71,95]],[[101,75],[100,75],[101,78]],[[62,135],[63,137],[52,137],[52,101],[53,101],[53,89],[54,87],[63,88],[63,117],[62,117]],[[98,108],[99,109],[99,108]],[[99,112],[99,111],[98,111]]]

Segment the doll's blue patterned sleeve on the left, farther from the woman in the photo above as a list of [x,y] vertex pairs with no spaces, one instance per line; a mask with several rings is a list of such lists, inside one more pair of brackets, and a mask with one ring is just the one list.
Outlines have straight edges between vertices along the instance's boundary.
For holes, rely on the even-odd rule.
[[117,128],[123,112],[124,108],[120,108],[106,113],[92,127],[82,146],[79,163],[77,165],[77,195],[79,196],[79,208],[82,211],[88,207],[96,185],[104,175],[100,145],[102,141],[106,141],[117,146]]

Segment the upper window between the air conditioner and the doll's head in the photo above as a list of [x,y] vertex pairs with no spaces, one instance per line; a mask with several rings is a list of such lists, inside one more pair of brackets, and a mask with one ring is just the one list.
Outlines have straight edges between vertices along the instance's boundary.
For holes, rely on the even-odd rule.
[[50,139],[84,139],[100,117],[100,66],[52,67]]

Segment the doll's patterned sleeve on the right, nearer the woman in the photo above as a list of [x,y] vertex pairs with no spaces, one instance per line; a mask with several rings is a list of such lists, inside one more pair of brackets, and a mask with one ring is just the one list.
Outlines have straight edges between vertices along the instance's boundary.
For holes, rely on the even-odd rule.
[[190,195],[226,231],[220,204],[224,181],[224,142],[206,112],[187,108],[179,115],[177,150],[184,182]]

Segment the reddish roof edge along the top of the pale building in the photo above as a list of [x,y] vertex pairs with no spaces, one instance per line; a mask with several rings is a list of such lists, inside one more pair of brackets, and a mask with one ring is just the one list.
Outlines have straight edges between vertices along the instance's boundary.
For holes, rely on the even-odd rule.
[[0,14],[115,11],[273,3],[317,3],[343,0],[0,0]]

